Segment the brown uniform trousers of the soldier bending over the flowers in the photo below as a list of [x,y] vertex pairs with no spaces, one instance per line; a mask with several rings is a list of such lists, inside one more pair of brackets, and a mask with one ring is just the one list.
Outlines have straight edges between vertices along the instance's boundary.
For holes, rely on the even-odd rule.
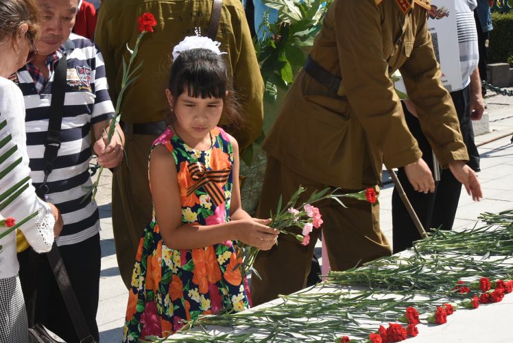
[[[372,173],[370,168],[364,170],[364,174],[366,171]],[[306,187],[307,191],[298,200],[298,204],[305,202],[315,189],[329,187],[309,180],[275,158],[267,156],[267,169],[257,217],[267,218],[270,211],[276,213],[280,195],[283,195],[285,203],[300,185]],[[333,200],[315,203],[324,220],[321,226],[322,235],[323,239],[326,239],[331,270],[346,270],[358,263],[390,255],[390,245],[379,228],[379,204],[372,205],[352,198],[342,198],[342,202],[347,208]],[[295,229],[297,233],[301,232],[299,228]],[[296,292],[306,286],[313,248],[319,235],[320,230],[312,231],[309,246],[302,246],[291,235],[280,235],[276,246],[271,250],[259,252],[254,268],[262,279],[255,274],[251,278],[253,305],[275,299],[278,294]]]

